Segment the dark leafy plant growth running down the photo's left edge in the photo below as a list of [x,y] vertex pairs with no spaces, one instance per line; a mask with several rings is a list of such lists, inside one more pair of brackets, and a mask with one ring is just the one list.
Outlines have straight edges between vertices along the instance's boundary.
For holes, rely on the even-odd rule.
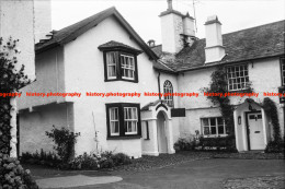
[[[30,170],[24,170],[16,158],[10,157],[11,108],[10,95],[30,83],[24,66],[18,68],[18,39],[0,38],[0,188],[38,188]],[[4,95],[8,94],[8,95]]]

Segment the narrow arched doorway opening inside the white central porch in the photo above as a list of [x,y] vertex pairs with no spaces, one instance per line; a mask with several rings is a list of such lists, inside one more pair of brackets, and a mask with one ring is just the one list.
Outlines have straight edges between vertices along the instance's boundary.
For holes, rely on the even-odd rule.
[[168,140],[166,132],[166,117],[163,113],[158,114],[157,119],[157,130],[158,130],[158,152],[168,153]]

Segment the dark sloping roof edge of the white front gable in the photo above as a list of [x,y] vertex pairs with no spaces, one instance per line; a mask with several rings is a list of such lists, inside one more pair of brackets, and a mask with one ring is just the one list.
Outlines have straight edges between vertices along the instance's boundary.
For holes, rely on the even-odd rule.
[[134,31],[134,28],[114,7],[55,32],[52,39],[42,40],[43,43],[36,44],[36,52],[41,52],[75,40],[78,36],[96,26],[100,22],[104,21],[109,16],[114,16],[118,21],[118,23],[127,31],[132,38],[140,46],[140,48],[149,56],[150,59],[158,59],[156,54],[148,47],[148,45],[140,38],[140,36]]

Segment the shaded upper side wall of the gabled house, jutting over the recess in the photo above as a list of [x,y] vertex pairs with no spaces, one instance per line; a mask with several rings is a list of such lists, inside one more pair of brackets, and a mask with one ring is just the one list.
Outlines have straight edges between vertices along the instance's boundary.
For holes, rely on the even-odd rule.
[[21,90],[22,96],[18,99],[19,109],[34,106],[60,103],[61,96],[26,96],[27,93],[62,93],[65,92],[65,66],[62,47],[57,47],[36,55],[36,81]]

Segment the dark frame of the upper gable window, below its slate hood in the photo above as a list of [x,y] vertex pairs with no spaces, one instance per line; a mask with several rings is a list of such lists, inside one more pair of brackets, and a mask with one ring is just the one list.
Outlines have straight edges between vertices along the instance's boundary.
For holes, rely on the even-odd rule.
[[[116,54],[116,76],[115,78],[109,78],[107,76],[107,54],[109,52],[115,52]],[[122,69],[122,62],[121,62],[121,56],[127,56],[134,58],[134,79],[128,79],[123,76],[123,69]],[[127,82],[134,82],[138,83],[138,68],[137,68],[137,55],[130,51],[126,50],[119,50],[119,49],[109,49],[103,51],[103,62],[104,62],[104,81],[111,82],[111,81],[127,81]]]

